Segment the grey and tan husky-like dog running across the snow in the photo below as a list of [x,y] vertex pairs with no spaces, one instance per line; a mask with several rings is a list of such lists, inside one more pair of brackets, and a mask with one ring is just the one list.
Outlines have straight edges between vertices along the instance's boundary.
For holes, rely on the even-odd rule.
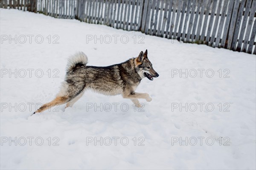
[[131,99],[137,107],[141,107],[138,99],[146,99],[148,102],[152,99],[147,93],[136,93],[137,86],[144,77],[153,80],[153,77],[159,76],[148,59],[147,50],[145,53],[141,51],[136,58],[107,67],[87,66],[87,56],[78,52],[70,57],[66,69],[65,81],[56,98],[33,114],[64,103],[67,103],[66,108],[72,107],[86,89],[105,95],[122,94],[123,98]]

